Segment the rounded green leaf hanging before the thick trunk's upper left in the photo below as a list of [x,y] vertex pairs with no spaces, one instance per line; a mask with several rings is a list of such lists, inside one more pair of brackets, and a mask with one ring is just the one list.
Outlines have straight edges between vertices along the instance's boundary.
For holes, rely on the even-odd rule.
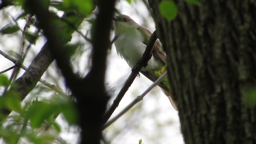
[[178,9],[176,7],[176,4],[172,0],[163,0],[158,5],[158,8],[160,10],[160,13],[164,18],[166,18],[168,21],[173,20],[176,18],[178,14]]

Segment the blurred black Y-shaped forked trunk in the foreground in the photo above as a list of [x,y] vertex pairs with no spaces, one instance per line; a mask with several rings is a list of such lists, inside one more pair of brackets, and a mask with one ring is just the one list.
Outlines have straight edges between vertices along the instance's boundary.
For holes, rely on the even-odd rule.
[[80,116],[79,125],[82,128],[81,143],[100,144],[102,137],[102,116],[106,110],[109,97],[105,92],[104,79],[106,70],[107,50],[110,46],[110,29],[115,0],[98,1],[99,13],[97,14],[92,35],[92,68],[85,78],[79,78],[74,74],[68,52],[65,50],[64,42],[61,41],[60,31],[52,24],[52,14],[48,7],[42,6],[40,0],[28,0],[30,10],[44,31],[48,40],[49,50],[65,78],[65,83],[77,99],[76,106]]

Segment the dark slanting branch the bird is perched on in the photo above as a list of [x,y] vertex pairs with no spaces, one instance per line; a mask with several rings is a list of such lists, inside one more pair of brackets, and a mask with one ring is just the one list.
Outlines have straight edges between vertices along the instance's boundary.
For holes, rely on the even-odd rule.
[[124,94],[128,90],[128,88],[131,86],[132,82],[140,72],[142,67],[146,67],[148,64],[148,60],[152,57],[152,49],[155,44],[155,41],[157,39],[156,31],[153,32],[153,34],[150,36],[149,43],[146,47],[146,50],[142,56],[142,58],[137,62],[136,66],[132,68],[132,73],[124,83],[124,86],[116,96],[113,104],[110,106],[110,108],[106,111],[106,113],[103,115],[103,122],[106,123],[110,116],[113,114],[114,110],[118,107],[119,102],[122,100]]

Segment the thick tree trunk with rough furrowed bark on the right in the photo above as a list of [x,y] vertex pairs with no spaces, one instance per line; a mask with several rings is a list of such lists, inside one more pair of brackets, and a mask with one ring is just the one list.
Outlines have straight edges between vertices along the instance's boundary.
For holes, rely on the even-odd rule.
[[186,144],[255,144],[256,3],[253,0],[174,0],[168,22],[148,0],[166,50],[172,94]]

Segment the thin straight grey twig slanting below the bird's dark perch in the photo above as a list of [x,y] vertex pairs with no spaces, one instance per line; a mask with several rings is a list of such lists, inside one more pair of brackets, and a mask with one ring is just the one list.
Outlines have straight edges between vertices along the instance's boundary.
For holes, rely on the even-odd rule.
[[117,114],[114,118],[106,122],[106,124],[102,126],[102,130],[110,126],[110,124],[115,122],[118,118],[120,118],[123,114],[125,114],[128,110],[130,110],[135,104],[142,101],[144,96],[146,96],[146,94],[150,90],[152,90],[152,88],[154,88],[157,84],[159,84],[162,81],[162,79],[166,76],[167,76],[167,72],[164,72],[164,74],[162,74],[162,76],[160,76],[153,84],[151,84],[140,96],[137,96],[137,98],[134,99],[130,104],[128,104],[128,106],[126,106],[119,114]]

